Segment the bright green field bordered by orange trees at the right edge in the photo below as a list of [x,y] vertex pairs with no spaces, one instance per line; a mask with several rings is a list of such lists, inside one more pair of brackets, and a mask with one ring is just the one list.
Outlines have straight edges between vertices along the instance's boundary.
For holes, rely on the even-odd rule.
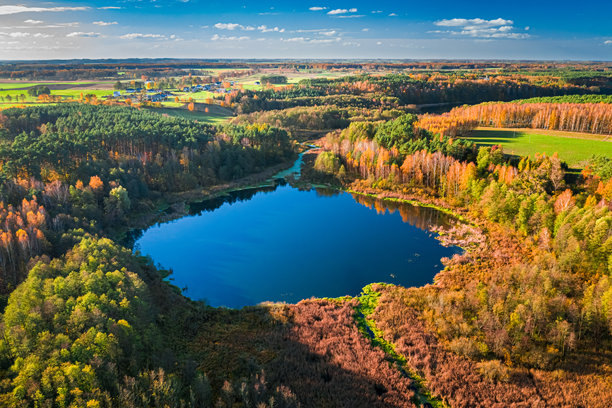
[[593,154],[612,157],[612,141],[606,135],[539,129],[477,128],[466,139],[481,146],[501,144],[505,153],[520,156],[533,157],[536,153],[552,155],[556,152],[572,168],[582,168],[583,162]]

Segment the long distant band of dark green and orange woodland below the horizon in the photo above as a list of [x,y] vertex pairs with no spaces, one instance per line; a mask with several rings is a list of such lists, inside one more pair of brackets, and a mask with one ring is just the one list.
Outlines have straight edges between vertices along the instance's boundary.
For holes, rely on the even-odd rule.
[[597,87],[577,86],[559,79],[532,80],[523,76],[469,76],[410,74],[307,79],[298,86],[236,94],[239,113],[334,104],[338,107],[398,108],[423,104],[474,104],[521,98],[589,94]]

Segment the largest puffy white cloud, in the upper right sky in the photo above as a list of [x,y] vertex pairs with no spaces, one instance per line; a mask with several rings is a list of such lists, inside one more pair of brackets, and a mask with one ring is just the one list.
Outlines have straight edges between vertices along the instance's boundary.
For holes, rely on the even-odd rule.
[[[482,18],[453,18],[434,22],[441,27],[449,27],[449,30],[434,30],[430,33],[451,34],[457,36],[473,37],[476,39],[513,39],[520,40],[529,38],[527,33],[515,32],[514,21],[503,18],[485,20]],[[528,30],[528,28],[526,28]]]

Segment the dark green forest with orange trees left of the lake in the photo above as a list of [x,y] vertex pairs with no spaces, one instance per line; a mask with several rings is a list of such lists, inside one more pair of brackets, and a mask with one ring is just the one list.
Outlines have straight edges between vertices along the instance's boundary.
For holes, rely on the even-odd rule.
[[4,293],[32,257],[124,225],[164,193],[244,177],[294,154],[287,133],[265,124],[215,128],[126,107],[10,109],[0,123]]

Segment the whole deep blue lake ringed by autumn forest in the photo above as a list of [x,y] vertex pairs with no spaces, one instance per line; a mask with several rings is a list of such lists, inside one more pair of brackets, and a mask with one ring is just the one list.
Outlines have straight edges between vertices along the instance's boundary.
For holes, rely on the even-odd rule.
[[421,286],[461,251],[428,231],[450,221],[436,209],[329,189],[281,182],[190,208],[143,231],[135,248],[211,306],[354,296],[372,282]]

